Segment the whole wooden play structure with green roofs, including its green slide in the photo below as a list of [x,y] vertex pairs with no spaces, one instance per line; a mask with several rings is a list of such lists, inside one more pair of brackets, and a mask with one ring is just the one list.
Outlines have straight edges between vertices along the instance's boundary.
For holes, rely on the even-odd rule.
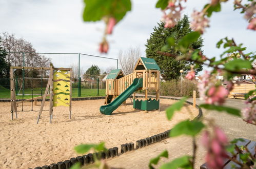
[[[145,91],[145,99],[135,99],[137,90]],[[155,99],[148,99],[148,91],[155,91]],[[160,68],[152,58],[141,57],[134,72],[124,76],[121,69],[112,70],[106,79],[105,104],[100,108],[102,114],[111,115],[133,94],[133,109],[159,110],[160,105]]]

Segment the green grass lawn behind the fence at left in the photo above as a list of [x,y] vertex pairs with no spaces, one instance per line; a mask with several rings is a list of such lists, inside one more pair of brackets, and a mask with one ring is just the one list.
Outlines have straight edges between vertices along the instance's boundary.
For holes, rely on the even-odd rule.
[[[99,89],[99,96],[105,96],[105,89]],[[32,98],[31,90],[24,90],[25,96],[24,99]],[[45,93],[45,88],[43,88],[43,95]],[[19,92],[19,94],[22,94],[22,91]],[[26,95],[29,94],[29,95]],[[10,98],[10,90],[0,88],[0,98]],[[36,88],[33,90],[33,97],[41,96],[41,88]],[[81,97],[96,97],[97,95],[97,89],[81,89]],[[72,97],[76,98],[78,97],[78,89],[74,88],[72,89]],[[22,99],[22,95],[16,96],[16,99]]]

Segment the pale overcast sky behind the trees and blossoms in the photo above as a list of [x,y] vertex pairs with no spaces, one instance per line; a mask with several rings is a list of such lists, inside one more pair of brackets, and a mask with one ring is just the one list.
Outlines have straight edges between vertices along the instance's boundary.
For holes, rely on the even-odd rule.
[[[139,46],[145,56],[145,44],[153,27],[161,19],[162,12],[155,9],[156,0],[133,0],[132,11],[115,26],[110,41],[109,53],[98,52],[104,24],[85,23],[82,19],[84,3],[81,0],[0,0],[0,32],[14,33],[30,41],[37,52],[86,53],[117,58],[119,50]],[[188,0],[183,14],[191,15],[193,9],[201,10],[209,1]],[[218,56],[223,50],[215,48],[216,42],[225,36],[243,43],[247,51],[255,51],[255,33],[247,30],[247,22],[239,11],[233,11],[232,2],[223,3],[221,13],[213,13],[210,28],[203,35],[204,53]],[[69,56],[58,65],[70,65]],[[75,57],[75,56],[72,56]],[[73,60],[77,60],[75,57]],[[81,60],[85,65],[96,64],[101,68],[115,66],[115,61],[92,59]],[[61,64],[60,64],[61,63]],[[65,63],[65,64],[64,64]],[[55,64],[56,65],[56,64]]]

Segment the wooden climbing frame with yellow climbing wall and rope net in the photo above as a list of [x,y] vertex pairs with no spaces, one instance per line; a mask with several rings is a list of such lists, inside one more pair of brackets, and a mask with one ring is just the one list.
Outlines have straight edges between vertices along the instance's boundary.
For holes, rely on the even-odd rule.
[[[14,79],[14,70],[17,69],[22,69],[23,71],[23,76],[25,70],[31,70],[32,71],[32,89],[31,89],[31,94],[32,98],[30,99],[22,99],[22,101],[16,101],[16,96],[15,96],[15,79]],[[49,80],[45,89],[45,94],[44,96],[38,96],[38,97],[33,97],[33,70],[50,70],[49,73]],[[43,73],[42,73],[43,74]],[[42,100],[41,108],[38,113],[38,118],[37,118],[37,123],[39,122],[40,116],[42,114],[44,104],[46,101],[46,98],[49,96],[49,101],[50,101],[50,107],[49,107],[49,114],[50,114],[50,123],[52,119],[52,112],[53,112],[53,107],[57,107],[60,105],[69,107],[69,118],[71,118],[71,100],[72,100],[72,81],[71,81],[71,74],[72,74],[72,69],[70,68],[54,68],[52,64],[50,64],[50,68],[38,68],[38,67],[10,67],[10,89],[11,89],[11,119],[13,120],[13,112],[15,112],[16,118],[17,118],[17,105],[19,103],[22,103],[22,111],[23,111],[23,103],[25,101],[31,101],[31,111],[33,111],[33,102],[39,98]],[[23,90],[23,96],[24,96],[24,81],[22,85],[22,90]],[[42,86],[41,86],[42,89]],[[43,91],[43,90],[41,90]]]

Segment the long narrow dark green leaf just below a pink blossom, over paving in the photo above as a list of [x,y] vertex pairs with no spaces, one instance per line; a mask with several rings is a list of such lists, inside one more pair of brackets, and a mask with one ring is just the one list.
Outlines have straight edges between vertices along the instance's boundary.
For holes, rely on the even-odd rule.
[[218,112],[227,112],[228,114],[234,115],[234,116],[241,116],[240,115],[240,110],[230,108],[230,107],[225,107],[222,105],[213,105],[213,104],[201,104],[201,108],[207,109],[207,110],[215,110]]

